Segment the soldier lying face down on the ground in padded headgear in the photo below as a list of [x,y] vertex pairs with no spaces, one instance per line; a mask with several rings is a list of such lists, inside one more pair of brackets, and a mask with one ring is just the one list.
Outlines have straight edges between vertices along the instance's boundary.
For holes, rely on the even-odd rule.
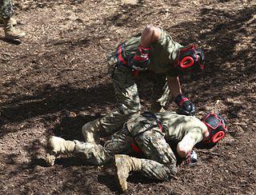
[[[160,181],[169,180],[176,175],[181,161],[191,159],[194,146],[210,149],[226,132],[226,120],[215,113],[208,113],[200,121],[197,117],[177,113],[146,112],[127,121],[104,146],[52,136],[48,141],[46,162],[54,165],[58,154],[66,152],[80,153],[94,165],[114,158],[119,184],[122,191],[126,191],[126,179],[131,171]],[[133,151],[141,153],[143,158],[127,155]]]

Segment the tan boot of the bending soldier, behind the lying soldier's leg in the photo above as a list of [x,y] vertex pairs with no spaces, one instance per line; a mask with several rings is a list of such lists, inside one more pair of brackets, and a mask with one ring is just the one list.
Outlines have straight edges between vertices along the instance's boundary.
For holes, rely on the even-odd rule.
[[87,143],[98,144],[99,134],[102,133],[104,129],[100,123],[99,119],[87,122],[86,125],[82,126],[82,134]]

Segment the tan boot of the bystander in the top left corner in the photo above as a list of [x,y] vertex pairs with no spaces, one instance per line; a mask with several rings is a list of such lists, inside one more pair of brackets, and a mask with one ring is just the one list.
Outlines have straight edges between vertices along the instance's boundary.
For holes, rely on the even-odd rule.
[[23,38],[26,35],[25,32],[15,29],[15,27],[11,23],[10,18],[4,19],[4,30],[5,30],[6,38],[10,40]]

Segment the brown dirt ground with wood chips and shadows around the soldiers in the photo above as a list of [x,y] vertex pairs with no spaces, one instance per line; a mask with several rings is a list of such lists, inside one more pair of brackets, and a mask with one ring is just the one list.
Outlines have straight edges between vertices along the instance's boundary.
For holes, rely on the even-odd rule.
[[[182,88],[198,117],[223,113],[230,133],[218,147],[198,150],[198,165],[181,166],[178,180],[135,174],[127,194],[256,192],[255,1],[21,0],[14,18],[27,36],[6,42],[0,34],[1,194],[118,193],[111,165],[62,157],[46,167],[43,146],[50,133],[82,140],[82,125],[114,108],[106,54],[149,23],[204,48],[205,73],[182,78]],[[152,78],[138,78],[144,109],[156,98],[149,80],[160,80]]]

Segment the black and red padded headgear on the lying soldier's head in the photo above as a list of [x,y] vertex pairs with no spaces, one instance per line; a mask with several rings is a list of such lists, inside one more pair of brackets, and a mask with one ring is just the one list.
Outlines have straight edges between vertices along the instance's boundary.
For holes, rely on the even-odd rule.
[[195,145],[195,147],[199,149],[211,149],[226,135],[227,122],[224,117],[213,112],[203,117],[202,122],[206,124],[209,135]]

